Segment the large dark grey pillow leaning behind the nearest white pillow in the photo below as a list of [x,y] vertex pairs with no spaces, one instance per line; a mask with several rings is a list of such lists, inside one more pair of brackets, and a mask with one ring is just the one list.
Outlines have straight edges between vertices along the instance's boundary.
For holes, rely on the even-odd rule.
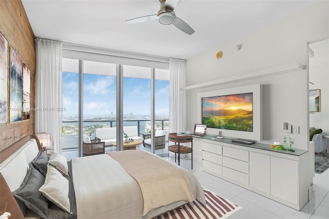
[[48,200],[39,191],[44,182],[43,175],[30,165],[21,187],[13,191],[15,198],[19,199],[28,209],[41,218],[48,217]]

